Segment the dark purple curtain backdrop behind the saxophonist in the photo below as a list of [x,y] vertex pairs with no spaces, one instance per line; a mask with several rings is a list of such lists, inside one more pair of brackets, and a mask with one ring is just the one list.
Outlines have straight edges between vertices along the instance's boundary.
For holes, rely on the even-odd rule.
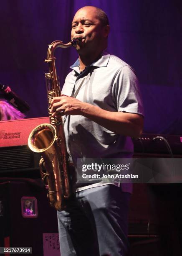
[[[0,82],[30,104],[27,118],[48,115],[48,44],[70,40],[73,15],[85,5],[108,14],[108,51],[136,70],[144,100],[144,132],[182,134],[182,2],[177,0],[1,1]],[[77,54],[75,49],[57,49],[56,58],[63,85]]]

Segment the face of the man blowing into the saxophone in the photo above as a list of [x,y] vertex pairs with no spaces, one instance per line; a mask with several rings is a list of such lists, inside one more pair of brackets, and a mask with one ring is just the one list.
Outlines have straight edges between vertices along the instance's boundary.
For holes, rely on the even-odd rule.
[[103,44],[107,35],[104,26],[96,16],[96,9],[85,7],[75,14],[72,22],[71,39],[82,38],[76,49],[78,52],[93,51]]

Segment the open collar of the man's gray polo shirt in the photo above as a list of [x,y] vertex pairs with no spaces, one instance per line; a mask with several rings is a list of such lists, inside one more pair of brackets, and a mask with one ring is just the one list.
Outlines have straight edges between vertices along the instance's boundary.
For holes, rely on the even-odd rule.
[[[94,67],[107,67],[108,61],[110,58],[110,54],[108,54],[106,51],[102,52],[102,56],[97,61],[93,62],[90,66]],[[76,73],[80,73],[80,61],[77,59],[75,63],[70,67],[73,69]]]

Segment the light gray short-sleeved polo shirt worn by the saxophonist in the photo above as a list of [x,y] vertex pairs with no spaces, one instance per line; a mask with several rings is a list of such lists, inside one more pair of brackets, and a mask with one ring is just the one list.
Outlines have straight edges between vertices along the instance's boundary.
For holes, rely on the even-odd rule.
[[[91,64],[91,70],[80,74],[79,60],[66,77],[62,93],[71,95],[81,88],[76,98],[108,111],[144,115],[137,77],[133,69],[114,55],[103,53]],[[109,114],[108,114],[109,115]],[[107,130],[82,115],[68,115],[64,125],[68,152],[73,163],[82,158],[128,158],[133,154],[130,137]],[[89,185],[89,187],[99,184]],[[78,184],[79,187],[79,184]],[[129,184],[122,190],[131,192]]]

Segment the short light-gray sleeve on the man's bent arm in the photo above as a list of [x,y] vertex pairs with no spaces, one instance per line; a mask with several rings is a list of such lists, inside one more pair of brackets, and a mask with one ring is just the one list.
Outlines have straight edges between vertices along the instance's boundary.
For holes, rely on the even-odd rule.
[[121,67],[117,72],[114,78],[112,94],[118,111],[144,116],[139,82],[130,66]]

